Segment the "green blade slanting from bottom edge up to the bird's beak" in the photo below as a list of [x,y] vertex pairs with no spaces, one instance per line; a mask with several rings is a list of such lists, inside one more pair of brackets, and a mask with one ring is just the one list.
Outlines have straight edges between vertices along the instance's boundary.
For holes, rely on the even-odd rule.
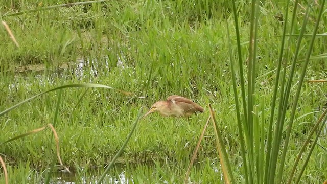
[[141,114],[142,114],[142,107],[139,109],[138,111],[138,115],[137,115],[137,119],[130,131],[130,133],[128,134],[124,144],[122,145],[122,147],[119,149],[119,151],[117,152],[117,154],[113,157],[113,159],[111,160],[109,166],[106,168],[106,170],[104,171],[104,173],[100,176],[100,178],[98,179],[97,183],[101,183],[104,179],[104,177],[108,174],[109,170],[112,168],[112,166],[114,165],[114,163],[116,162],[116,160],[119,158],[119,156],[123,153],[124,151],[124,148],[125,146],[127,145],[128,141],[130,140],[135,128],[136,128],[136,125],[139,121],[139,119],[141,119]]

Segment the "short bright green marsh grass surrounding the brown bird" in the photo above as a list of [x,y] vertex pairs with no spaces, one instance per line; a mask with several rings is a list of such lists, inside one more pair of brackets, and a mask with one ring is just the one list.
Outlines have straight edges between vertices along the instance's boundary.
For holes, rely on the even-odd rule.
[[[81,168],[89,162],[89,165],[101,168],[110,162],[124,142],[139,107],[150,107],[155,101],[165,100],[172,94],[188,97],[206,108],[206,104],[211,103],[216,110],[233,171],[238,176],[236,180],[244,182],[239,166],[242,157],[228,55],[226,19],[234,38],[231,41],[236,45],[230,4],[227,4],[230,6],[227,14],[223,3],[208,0],[109,1],[27,12],[63,3],[67,1],[0,1],[1,19],[7,22],[20,45],[17,48],[6,30],[0,29],[1,111],[63,84],[92,82],[133,92],[135,95],[125,96],[111,90],[90,89],[73,111],[86,89],[64,90],[56,124],[64,165]],[[299,33],[307,5],[301,3],[303,7],[298,9],[294,34]],[[237,6],[242,57],[246,59],[250,5],[238,1]],[[283,6],[278,1],[265,1],[260,5],[255,98],[265,99],[265,105],[255,107],[258,113],[270,110],[280,35],[284,21],[289,21],[283,20]],[[315,25],[319,8],[316,6],[310,15],[307,34]],[[15,12],[25,13],[11,16]],[[324,15],[318,30],[320,34],[325,32],[327,16]],[[294,54],[296,37],[291,41],[294,47],[289,48],[290,58],[287,60]],[[303,38],[299,60],[304,59],[309,41],[310,37]],[[325,54],[326,42],[325,36],[318,36],[312,56]],[[232,52],[236,59],[236,46]],[[72,62],[78,59],[88,62],[76,75],[77,65]],[[118,60],[122,61],[123,68],[117,66]],[[247,62],[244,63],[247,67]],[[18,66],[36,64],[46,66],[45,70],[17,72]],[[58,70],[64,65],[69,65],[67,70]],[[306,80],[326,79],[326,68],[327,62],[323,58],[310,61]],[[300,70],[295,70],[294,84],[300,74]],[[291,97],[295,91],[296,88],[292,88]],[[320,110],[325,108],[326,91],[324,83],[305,82],[303,85],[283,177],[287,178],[306,139],[303,134],[310,132],[321,114]],[[51,123],[56,99],[57,92],[53,92],[0,117],[0,142]],[[122,159],[136,163],[154,160],[156,164],[155,167],[142,164],[136,168],[126,167],[127,175],[141,178],[140,181],[142,178],[152,182],[180,181],[208,114],[206,110],[190,120],[164,119],[153,114],[139,122]],[[54,143],[47,139],[51,134],[51,131],[43,131],[0,147],[1,156],[12,168],[10,178],[22,175],[24,181],[26,176],[35,175],[34,170],[43,171],[51,164],[56,156]],[[200,164],[192,170],[191,180],[205,182],[204,176],[220,178],[220,169],[213,169],[218,167],[214,137],[209,127],[197,159]],[[305,183],[321,183],[327,177],[326,131],[319,144],[302,177]],[[153,172],[160,175],[152,177]]]

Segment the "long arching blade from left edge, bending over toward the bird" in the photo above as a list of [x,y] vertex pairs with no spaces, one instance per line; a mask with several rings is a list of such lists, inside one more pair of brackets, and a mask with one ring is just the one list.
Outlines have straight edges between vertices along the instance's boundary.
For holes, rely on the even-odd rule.
[[30,101],[38,96],[41,96],[43,94],[46,94],[46,93],[49,93],[51,91],[54,91],[54,90],[58,90],[58,89],[64,89],[64,88],[70,88],[70,87],[98,87],[98,88],[108,88],[108,89],[113,89],[113,90],[116,90],[116,91],[119,91],[120,93],[122,94],[125,94],[125,95],[131,95],[133,93],[130,93],[130,92],[126,92],[126,91],[123,91],[123,90],[119,90],[119,89],[115,89],[113,87],[110,87],[110,86],[106,86],[106,85],[102,85],[102,84],[90,84],[90,83],[86,83],[86,84],[68,84],[68,85],[63,85],[63,86],[60,86],[60,87],[56,87],[56,88],[53,88],[53,89],[50,89],[50,90],[47,90],[45,92],[42,92],[40,94],[37,94],[31,98],[28,98],[22,102],[19,102],[18,104],[0,112],[0,117],[3,116],[4,114],[8,113],[9,111],[13,110],[14,108],[18,107],[19,105],[27,102],[27,101]]

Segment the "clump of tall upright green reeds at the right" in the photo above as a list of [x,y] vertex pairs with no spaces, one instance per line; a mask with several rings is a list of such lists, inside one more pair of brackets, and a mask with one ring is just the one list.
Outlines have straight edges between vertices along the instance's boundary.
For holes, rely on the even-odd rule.
[[[284,27],[283,27],[283,36],[281,41],[281,49],[279,52],[278,57],[278,64],[276,69],[276,77],[275,77],[275,85],[273,90],[273,98],[271,101],[271,108],[270,108],[270,117],[266,117],[264,113],[264,102],[265,100],[259,100],[261,103],[261,122],[259,121],[259,114],[256,112],[256,108],[254,108],[258,104],[258,100],[255,99],[255,85],[257,84],[256,81],[256,50],[258,45],[258,20],[260,18],[259,14],[259,2],[253,0],[251,2],[251,19],[250,19],[250,41],[249,41],[249,56],[248,56],[248,67],[247,67],[247,90],[245,89],[245,79],[244,79],[244,73],[243,73],[243,59],[242,59],[242,51],[240,47],[241,38],[239,33],[239,22],[238,22],[238,14],[237,14],[237,7],[236,2],[232,1],[232,7],[233,7],[233,19],[235,21],[235,29],[236,29],[236,40],[237,40],[237,52],[238,52],[238,61],[239,61],[239,70],[237,71],[237,67],[235,67],[234,64],[234,58],[232,56],[232,49],[231,49],[231,40],[230,40],[230,32],[229,28],[227,28],[227,34],[228,34],[228,42],[229,42],[229,57],[230,57],[230,70],[232,75],[232,82],[233,82],[233,91],[235,96],[235,104],[236,104],[236,113],[237,113],[237,121],[238,121],[238,129],[240,133],[240,140],[241,140],[241,150],[242,150],[242,158],[243,158],[243,168],[244,168],[244,174],[245,174],[245,182],[246,183],[274,183],[275,180],[280,183],[282,182],[282,174],[284,173],[284,165],[285,165],[285,158],[286,158],[286,152],[288,151],[288,143],[290,141],[290,134],[292,130],[292,124],[295,117],[295,112],[297,110],[297,102],[300,97],[300,92],[302,88],[303,81],[305,79],[306,70],[309,64],[310,55],[313,49],[314,41],[315,41],[315,35],[318,30],[319,22],[321,15],[324,11],[324,3],[323,1],[319,8],[319,15],[316,17],[316,24],[314,31],[311,36],[310,45],[308,47],[306,57],[304,60],[304,64],[301,66],[301,75],[299,77],[299,82],[297,83],[297,90],[295,98],[292,99],[292,110],[291,110],[291,116],[288,121],[287,126],[287,132],[286,132],[286,138],[283,140],[283,128],[284,123],[286,122],[286,112],[287,108],[289,106],[289,100],[291,97],[290,91],[292,87],[292,82],[294,81],[294,73],[296,71],[296,63],[297,63],[297,57],[299,55],[300,51],[300,44],[301,40],[303,38],[303,35],[306,30],[306,25],[309,19],[310,11],[312,8],[312,5],[315,3],[315,1],[311,1],[309,5],[306,7],[306,14],[303,19],[303,24],[300,30],[300,34],[297,39],[297,46],[294,54],[294,58],[292,60],[292,65],[290,69],[288,70],[288,67],[286,65],[286,61],[283,60],[284,58],[288,58],[288,48],[290,47],[290,39],[291,36],[288,37],[288,45],[285,45],[286,40],[286,34],[287,34],[287,27],[288,27],[288,11],[290,6],[290,1],[287,1],[285,6],[285,17],[284,17]],[[295,2],[294,9],[293,9],[293,17],[291,21],[291,29],[289,35],[292,34],[293,25],[295,24],[295,18],[296,18],[296,10],[298,6],[298,1]],[[227,12],[227,11],[225,11]],[[227,20],[228,21],[228,20]],[[228,25],[228,24],[227,24]],[[286,53],[284,54],[284,50],[286,50]],[[282,65],[284,61],[284,68],[282,70]],[[238,90],[236,83],[236,73],[240,74],[240,83],[241,83],[241,94],[242,94],[242,105],[243,105],[243,112],[241,111],[239,100],[238,100]],[[281,76],[282,73],[282,76]],[[288,76],[286,75],[288,74]],[[286,77],[287,76],[287,77]],[[287,83],[285,83],[287,81]],[[246,93],[247,92],[247,93]],[[278,105],[278,111],[277,111],[277,117],[274,116],[275,107]],[[325,114],[323,113],[322,117]],[[242,117],[242,118],[241,118]],[[266,127],[265,120],[266,118],[269,118],[269,125]],[[277,120],[275,119],[277,118]],[[274,123],[276,121],[276,123]],[[320,122],[317,122],[319,124]],[[314,127],[315,131],[317,130],[318,126]],[[267,129],[265,131],[265,129]],[[244,137],[245,137],[245,141]],[[317,134],[317,139],[319,137],[320,131]],[[310,136],[311,137],[311,136]],[[264,140],[267,138],[267,141]],[[310,139],[310,138],[308,138]],[[283,153],[281,155],[281,158],[279,157],[279,150],[281,148],[282,141],[285,141]],[[313,149],[315,144],[312,145],[311,149]],[[266,153],[266,155],[265,155]],[[310,157],[310,154],[308,155],[308,158]],[[227,159],[228,160],[228,159]],[[279,160],[279,162],[278,162]],[[307,165],[307,162],[303,165],[303,168],[305,168]],[[264,169],[265,168],[265,169]],[[276,169],[278,168],[278,175],[275,175]],[[301,173],[303,172],[301,170],[298,179],[296,180],[296,183],[299,182],[299,178],[301,177]],[[294,171],[294,170],[293,170]],[[292,174],[293,174],[292,171]],[[228,173],[225,173],[228,174]],[[289,177],[289,182],[292,180],[293,175]]]

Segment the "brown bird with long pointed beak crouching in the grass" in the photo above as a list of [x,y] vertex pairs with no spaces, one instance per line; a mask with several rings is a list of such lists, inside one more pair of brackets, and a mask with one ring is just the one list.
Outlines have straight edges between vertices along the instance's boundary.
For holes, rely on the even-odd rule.
[[164,117],[189,117],[193,113],[204,112],[204,109],[187,98],[172,95],[166,101],[154,103],[144,117],[155,111]]

